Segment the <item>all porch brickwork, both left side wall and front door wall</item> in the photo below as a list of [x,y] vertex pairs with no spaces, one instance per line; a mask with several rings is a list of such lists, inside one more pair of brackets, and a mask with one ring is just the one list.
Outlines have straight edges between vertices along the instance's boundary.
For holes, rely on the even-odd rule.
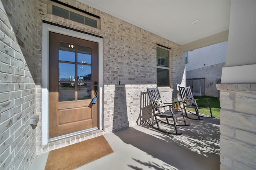
[[[76,1],[72,6],[101,17],[101,29],[47,14],[46,0],[1,3],[1,169],[28,169],[36,154],[137,124],[140,92],[156,87],[156,44],[171,50],[171,88],[165,100],[185,84],[180,45]],[[6,3],[6,5],[2,5]],[[42,20],[103,37],[104,131],[94,131],[42,145]],[[120,81],[120,86],[118,85]],[[39,115],[35,130],[30,118]]]

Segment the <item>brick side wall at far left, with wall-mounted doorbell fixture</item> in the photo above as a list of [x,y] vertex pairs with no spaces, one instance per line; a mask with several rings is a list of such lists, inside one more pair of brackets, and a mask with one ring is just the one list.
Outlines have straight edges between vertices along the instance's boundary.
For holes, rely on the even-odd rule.
[[27,170],[36,154],[36,1],[0,1],[0,169]]

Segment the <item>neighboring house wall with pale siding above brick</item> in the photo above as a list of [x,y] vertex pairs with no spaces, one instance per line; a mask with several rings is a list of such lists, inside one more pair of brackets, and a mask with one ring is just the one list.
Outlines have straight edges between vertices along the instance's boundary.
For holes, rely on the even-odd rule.
[[204,94],[219,97],[216,84],[220,83],[222,67],[225,66],[228,41],[203,47],[188,52],[186,64],[186,80],[193,78],[204,79]]

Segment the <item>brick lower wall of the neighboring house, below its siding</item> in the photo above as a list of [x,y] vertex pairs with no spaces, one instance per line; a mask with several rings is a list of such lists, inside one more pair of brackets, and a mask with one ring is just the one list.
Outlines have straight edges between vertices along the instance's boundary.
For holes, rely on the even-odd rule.
[[[219,97],[219,92],[217,91],[217,88],[216,88],[216,79],[221,78],[222,68],[224,66],[225,66],[225,63],[219,63],[211,66],[205,66],[202,68],[186,71],[186,79],[205,78],[204,79],[205,95]],[[212,85],[210,85],[210,82],[212,82]]]

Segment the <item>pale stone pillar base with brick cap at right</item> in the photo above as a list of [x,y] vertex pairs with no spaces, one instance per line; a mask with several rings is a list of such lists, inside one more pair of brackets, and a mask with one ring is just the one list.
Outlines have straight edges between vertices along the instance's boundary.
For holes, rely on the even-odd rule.
[[217,84],[220,91],[220,169],[255,170],[256,84]]

